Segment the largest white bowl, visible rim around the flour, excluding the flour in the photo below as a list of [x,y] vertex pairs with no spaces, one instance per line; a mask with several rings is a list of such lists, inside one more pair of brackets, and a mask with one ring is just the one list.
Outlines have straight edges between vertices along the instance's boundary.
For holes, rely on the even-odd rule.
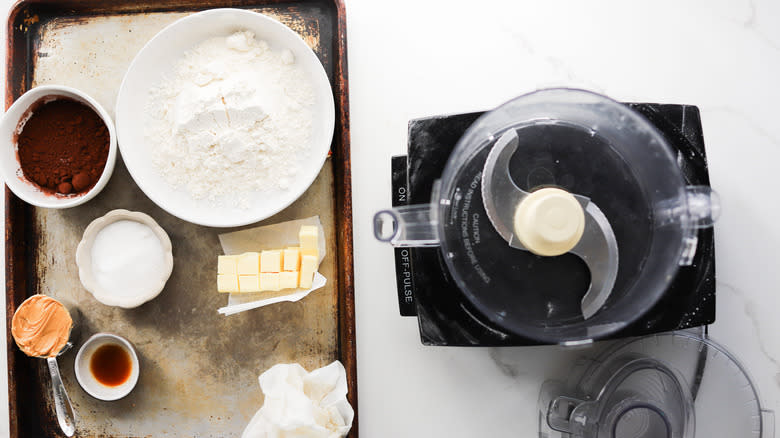
[[[287,48],[295,62],[310,78],[314,88],[314,120],[310,134],[310,154],[299,162],[294,182],[284,191],[254,193],[248,209],[231,206],[215,208],[209,201],[195,200],[185,189],[172,187],[152,163],[151,148],[144,134],[143,117],[149,90],[171,74],[184,52],[206,39],[228,36],[239,30],[255,33],[272,50]],[[157,205],[170,214],[200,225],[240,226],[254,223],[281,211],[314,182],[330,149],[335,109],[328,77],[317,56],[289,27],[256,12],[241,9],[213,9],[182,18],[152,38],[130,64],[122,81],[116,105],[119,148],[135,182]]]

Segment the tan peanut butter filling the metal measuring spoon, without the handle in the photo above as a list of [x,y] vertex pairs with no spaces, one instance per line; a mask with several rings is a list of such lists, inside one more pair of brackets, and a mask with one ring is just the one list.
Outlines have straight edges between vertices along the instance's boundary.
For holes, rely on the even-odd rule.
[[67,344],[72,326],[73,319],[62,303],[46,295],[33,295],[16,309],[11,334],[24,354],[54,357]]

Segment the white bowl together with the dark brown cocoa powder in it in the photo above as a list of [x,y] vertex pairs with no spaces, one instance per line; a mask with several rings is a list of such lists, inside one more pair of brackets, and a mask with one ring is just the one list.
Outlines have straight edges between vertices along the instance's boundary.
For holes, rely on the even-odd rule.
[[24,93],[0,122],[0,171],[16,196],[68,208],[105,187],[116,162],[114,123],[82,91],[43,85]]

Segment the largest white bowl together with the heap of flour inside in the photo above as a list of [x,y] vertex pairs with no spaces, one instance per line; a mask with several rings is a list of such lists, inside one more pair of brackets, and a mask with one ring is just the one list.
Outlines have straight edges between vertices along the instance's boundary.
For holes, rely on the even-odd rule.
[[333,92],[292,29],[213,9],[138,53],[116,106],[119,149],[143,192],[180,219],[233,227],[295,202],[328,156]]

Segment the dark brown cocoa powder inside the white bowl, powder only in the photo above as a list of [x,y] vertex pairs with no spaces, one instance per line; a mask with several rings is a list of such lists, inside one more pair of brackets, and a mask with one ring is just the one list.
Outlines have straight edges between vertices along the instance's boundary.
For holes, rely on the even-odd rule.
[[87,105],[58,98],[35,104],[17,136],[22,174],[45,192],[89,191],[106,167],[109,133]]

